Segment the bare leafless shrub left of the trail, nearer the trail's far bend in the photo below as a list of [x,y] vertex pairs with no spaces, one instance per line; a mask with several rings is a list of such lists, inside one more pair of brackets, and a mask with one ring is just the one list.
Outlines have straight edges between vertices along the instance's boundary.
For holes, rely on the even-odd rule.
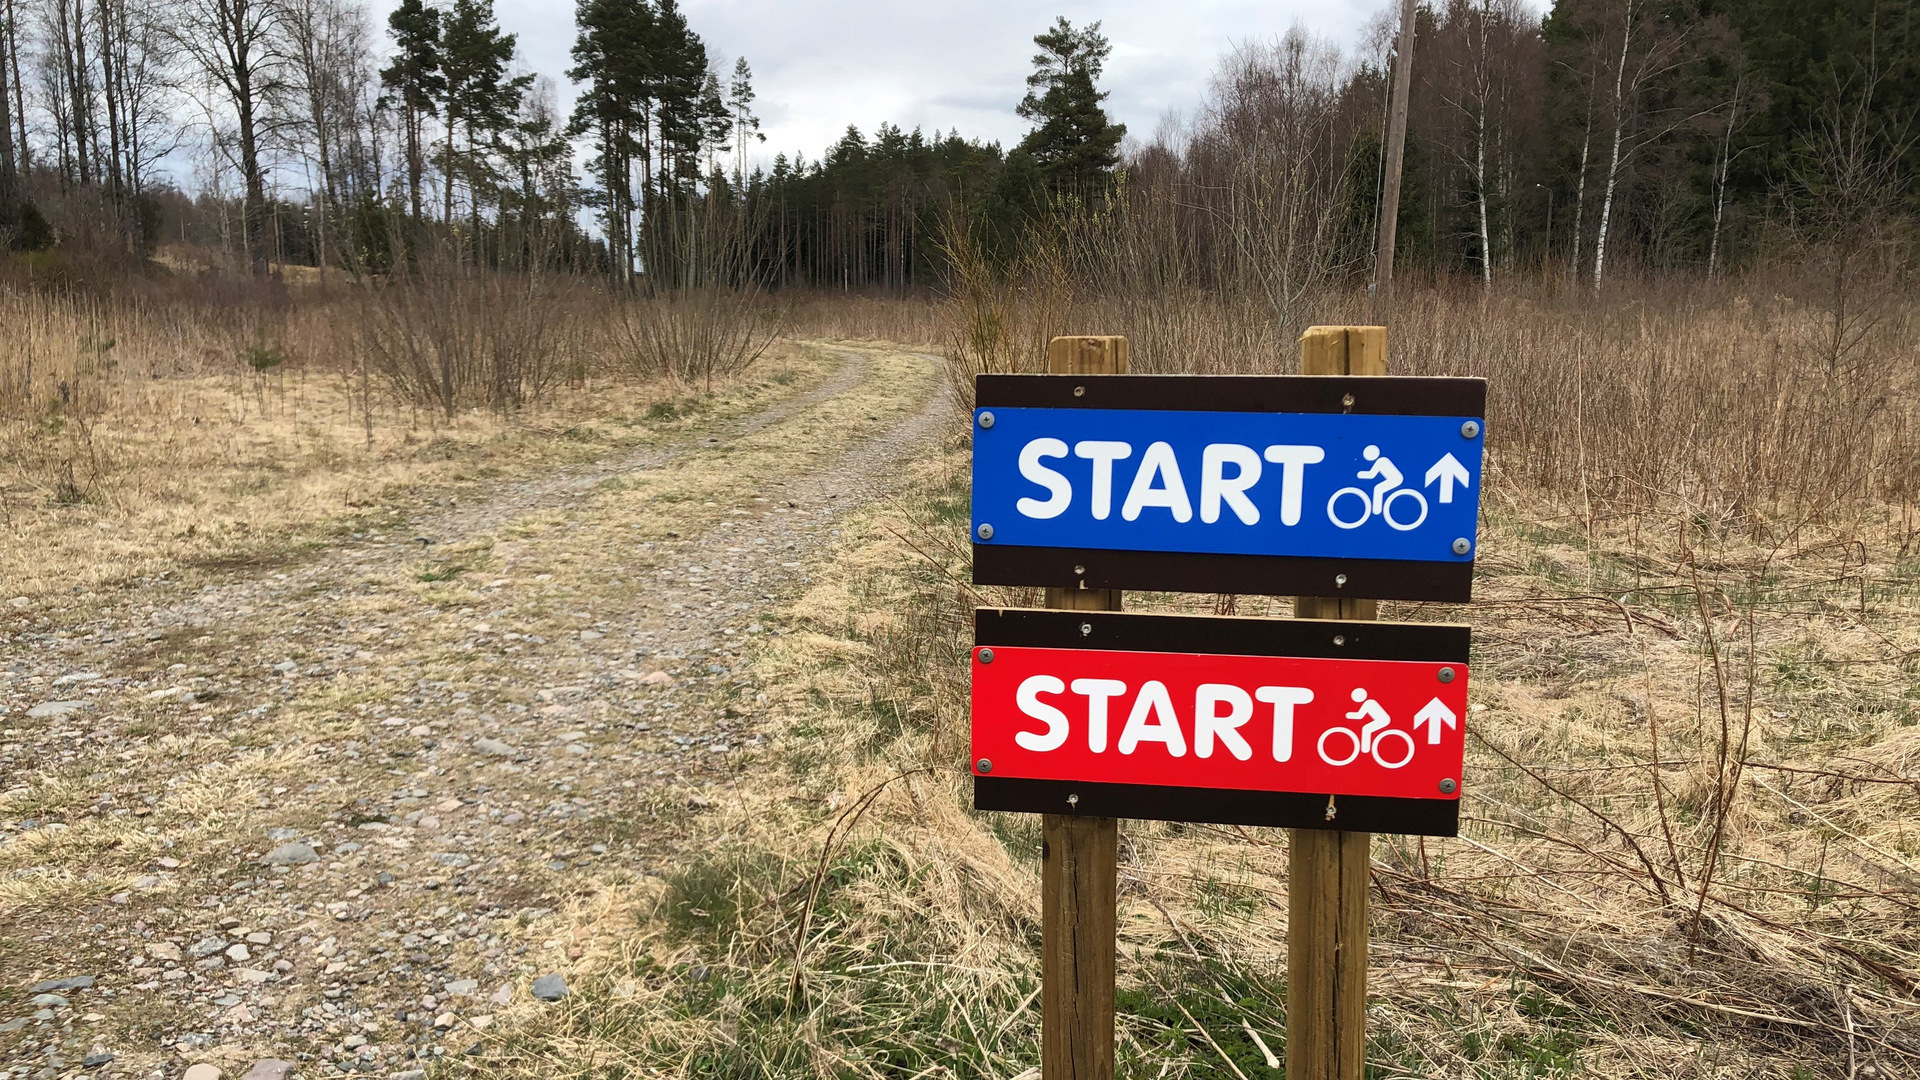
[[639,294],[616,309],[632,369],[712,388],[774,344],[785,311],[760,279],[753,217],[714,194],[655,209]]

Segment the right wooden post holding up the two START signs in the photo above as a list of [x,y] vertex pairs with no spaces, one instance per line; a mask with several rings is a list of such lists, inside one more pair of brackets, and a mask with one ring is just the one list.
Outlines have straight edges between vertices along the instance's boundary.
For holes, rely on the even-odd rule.
[[[1308,327],[1302,375],[1386,375],[1386,327]],[[1302,596],[1298,619],[1379,619],[1375,600]],[[1338,815],[1338,803],[1331,803]],[[1338,822],[1338,817],[1334,817]],[[1290,830],[1286,1080],[1361,1080],[1367,1068],[1369,832]]]

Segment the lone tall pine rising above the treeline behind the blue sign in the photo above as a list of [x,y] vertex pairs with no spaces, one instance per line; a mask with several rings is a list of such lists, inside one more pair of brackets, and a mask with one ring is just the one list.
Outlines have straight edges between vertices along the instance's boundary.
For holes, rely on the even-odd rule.
[[1125,125],[1106,115],[1100,104],[1106,92],[1096,88],[1114,46],[1100,35],[1100,23],[1075,31],[1066,17],[1054,19],[1054,27],[1037,35],[1033,44],[1041,52],[1033,56],[1027,96],[1018,110],[1033,121],[1033,131],[1018,152],[1033,160],[1054,194],[1098,200],[1106,194],[1119,163],[1119,140],[1127,135]]

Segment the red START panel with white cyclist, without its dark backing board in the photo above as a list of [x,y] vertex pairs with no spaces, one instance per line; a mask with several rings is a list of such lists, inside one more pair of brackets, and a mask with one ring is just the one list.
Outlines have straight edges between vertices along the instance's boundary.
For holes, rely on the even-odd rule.
[[973,650],[973,773],[1459,798],[1467,671],[1394,659]]

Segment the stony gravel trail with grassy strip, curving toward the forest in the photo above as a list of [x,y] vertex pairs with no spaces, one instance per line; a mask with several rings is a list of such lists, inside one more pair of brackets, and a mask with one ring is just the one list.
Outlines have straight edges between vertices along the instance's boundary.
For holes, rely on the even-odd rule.
[[931,357],[839,352],[678,446],[0,636],[0,1067],[420,1076],[564,978],[555,913],[751,776],[753,640],[939,432]]

